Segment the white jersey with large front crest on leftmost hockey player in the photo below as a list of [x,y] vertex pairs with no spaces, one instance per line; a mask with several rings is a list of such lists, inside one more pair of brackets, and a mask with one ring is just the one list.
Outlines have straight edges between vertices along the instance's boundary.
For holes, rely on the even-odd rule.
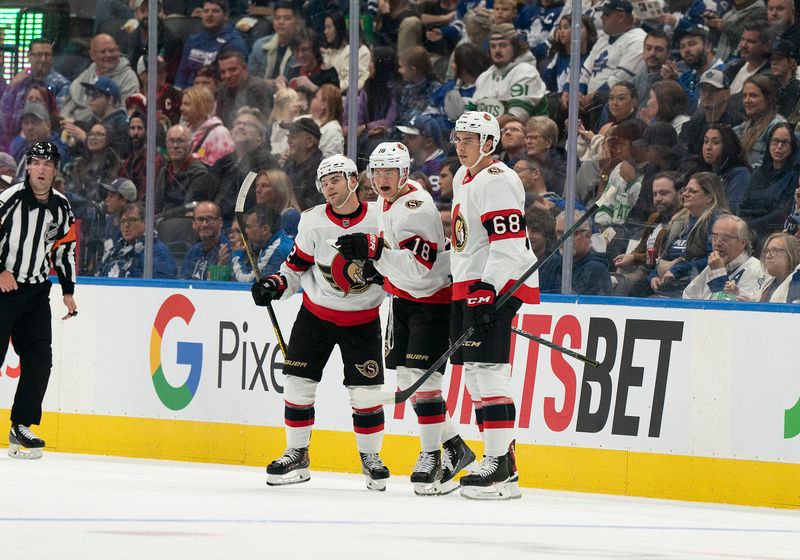
[[[347,261],[331,245],[348,233],[374,233],[378,229],[375,203],[362,203],[356,216],[334,214],[329,204],[319,204],[300,215],[294,247],[281,265],[287,288],[283,298],[303,289],[303,305],[311,313],[339,326],[362,325],[378,317],[386,297],[383,289],[364,282],[360,262]],[[342,284],[350,286],[345,295]]]

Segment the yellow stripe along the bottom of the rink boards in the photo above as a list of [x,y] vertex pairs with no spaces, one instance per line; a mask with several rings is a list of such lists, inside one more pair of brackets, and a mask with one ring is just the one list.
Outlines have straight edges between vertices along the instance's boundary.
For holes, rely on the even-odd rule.
[[[9,414],[0,409],[0,423]],[[250,466],[266,465],[285,442],[278,427],[55,412],[36,432],[53,451]],[[470,446],[482,454],[480,443]],[[387,435],[381,456],[392,474],[408,475],[418,453],[416,437]],[[315,430],[311,465],[361,472],[353,434]],[[518,445],[517,466],[520,484],[533,488],[800,509],[795,464]]]

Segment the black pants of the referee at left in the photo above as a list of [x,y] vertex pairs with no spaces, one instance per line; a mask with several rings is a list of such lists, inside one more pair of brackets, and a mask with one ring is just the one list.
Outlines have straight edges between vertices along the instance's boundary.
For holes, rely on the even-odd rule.
[[41,284],[18,285],[13,292],[0,292],[0,365],[5,361],[11,338],[20,357],[11,423],[30,426],[42,420],[42,400],[53,365],[51,283],[46,280]]

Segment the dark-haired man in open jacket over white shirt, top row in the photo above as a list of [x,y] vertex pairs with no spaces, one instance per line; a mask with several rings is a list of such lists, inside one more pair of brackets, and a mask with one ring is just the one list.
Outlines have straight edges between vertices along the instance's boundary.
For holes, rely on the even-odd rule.
[[297,33],[298,21],[290,0],[275,2],[272,13],[275,33],[253,43],[247,69],[251,75],[264,78],[268,86],[275,88],[275,80],[279,76],[285,77],[294,63],[291,43]]

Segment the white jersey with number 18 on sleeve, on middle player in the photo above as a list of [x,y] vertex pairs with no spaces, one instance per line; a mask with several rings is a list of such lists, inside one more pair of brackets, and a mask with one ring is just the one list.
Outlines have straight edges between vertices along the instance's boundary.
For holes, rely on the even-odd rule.
[[450,252],[445,247],[439,210],[416,181],[394,202],[378,201],[378,231],[384,249],[375,268],[383,288],[395,296],[424,303],[450,303]]

